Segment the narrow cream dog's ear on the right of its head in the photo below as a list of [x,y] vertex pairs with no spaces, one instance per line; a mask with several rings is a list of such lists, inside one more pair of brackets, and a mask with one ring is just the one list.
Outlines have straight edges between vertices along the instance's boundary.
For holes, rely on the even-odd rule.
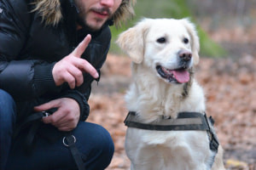
[[186,27],[187,31],[189,32],[189,36],[191,37],[190,45],[192,48],[192,54],[194,58],[194,65],[197,65],[199,63],[199,37],[197,35],[197,31],[195,29],[195,25],[192,24],[188,19],[182,20],[183,25]]

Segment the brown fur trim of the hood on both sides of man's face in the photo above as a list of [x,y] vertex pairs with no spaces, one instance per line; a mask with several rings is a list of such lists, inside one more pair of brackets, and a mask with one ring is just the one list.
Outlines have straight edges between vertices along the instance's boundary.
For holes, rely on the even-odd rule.
[[[120,26],[122,21],[134,15],[133,6],[137,0],[122,0],[120,7],[113,14],[113,23]],[[35,0],[33,12],[42,16],[46,25],[56,25],[62,19],[61,0]]]

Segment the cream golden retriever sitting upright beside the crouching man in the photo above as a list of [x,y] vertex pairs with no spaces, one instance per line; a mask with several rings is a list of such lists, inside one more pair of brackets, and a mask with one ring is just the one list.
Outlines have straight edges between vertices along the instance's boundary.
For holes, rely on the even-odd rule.
[[[200,49],[195,25],[189,19],[146,18],[122,32],[117,43],[132,61],[132,82],[125,94],[127,109],[134,113],[130,122],[137,124],[128,126],[125,136],[131,169],[223,170],[222,147],[217,145],[215,151],[210,147],[216,137],[212,123],[213,135],[175,126],[174,130],[154,129],[182,121],[180,113],[205,114],[206,99],[193,69]],[[148,125],[153,127],[147,129]]]

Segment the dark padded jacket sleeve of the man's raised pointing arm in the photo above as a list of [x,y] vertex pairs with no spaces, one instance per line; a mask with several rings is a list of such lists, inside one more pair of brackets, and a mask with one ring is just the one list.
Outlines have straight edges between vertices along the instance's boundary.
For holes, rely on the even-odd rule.
[[34,99],[58,89],[51,73],[55,63],[20,60],[30,26],[30,14],[24,2],[0,1],[0,88],[16,101]]

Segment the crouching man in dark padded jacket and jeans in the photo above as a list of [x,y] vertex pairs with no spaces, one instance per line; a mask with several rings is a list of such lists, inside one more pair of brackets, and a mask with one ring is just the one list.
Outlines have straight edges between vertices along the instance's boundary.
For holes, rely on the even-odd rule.
[[[90,84],[98,81],[108,54],[108,26],[133,14],[130,1],[0,1],[1,170],[77,169],[62,141],[69,131],[86,169],[108,167],[109,133],[84,120]],[[26,153],[31,127],[21,125],[43,111],[53,114],[39,122]]]

